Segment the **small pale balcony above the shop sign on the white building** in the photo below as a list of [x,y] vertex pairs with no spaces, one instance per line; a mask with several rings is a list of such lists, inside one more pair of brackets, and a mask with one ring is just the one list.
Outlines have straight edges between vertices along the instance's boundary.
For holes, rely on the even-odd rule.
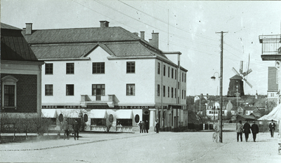
[[114,108],[115,94],[108,94],[105,96],[89,96],[88,94],[81,94],[80,104],[82,107],[108,105],[110,108]]

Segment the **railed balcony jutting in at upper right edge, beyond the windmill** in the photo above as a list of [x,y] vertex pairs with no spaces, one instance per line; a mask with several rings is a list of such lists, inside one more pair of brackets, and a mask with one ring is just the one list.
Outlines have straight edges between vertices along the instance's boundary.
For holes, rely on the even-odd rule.
[[261,59],[263,61],[281,60],[281,35],[261,35],[259,42],[262,43]]

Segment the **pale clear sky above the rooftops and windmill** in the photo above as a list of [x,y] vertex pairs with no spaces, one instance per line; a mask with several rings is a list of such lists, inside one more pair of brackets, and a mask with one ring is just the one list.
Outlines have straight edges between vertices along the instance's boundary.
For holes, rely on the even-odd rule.
[[[281,1],[94,1],[1,0],[1,22],[33,29],[110,27],[131,32],[159,33],[159,49],[180,51],[181,66],[188,69],[187,95],[219,95],[221,34],[223,34],[223,95],[228,93],[233,67],[243,72],[245,94],[266,94],[268,66],[262,61],[260,35],[280,34]],[[140,35],[139,35],[140,36]],[[211,80],[215,76],[216,80]]]

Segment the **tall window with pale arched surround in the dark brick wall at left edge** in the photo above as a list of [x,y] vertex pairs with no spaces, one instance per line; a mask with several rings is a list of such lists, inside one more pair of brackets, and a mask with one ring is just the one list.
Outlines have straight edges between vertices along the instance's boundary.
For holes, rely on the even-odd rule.
[[2,82],[2,109],[17,108],[17,82],[13,76],[1,78]]

